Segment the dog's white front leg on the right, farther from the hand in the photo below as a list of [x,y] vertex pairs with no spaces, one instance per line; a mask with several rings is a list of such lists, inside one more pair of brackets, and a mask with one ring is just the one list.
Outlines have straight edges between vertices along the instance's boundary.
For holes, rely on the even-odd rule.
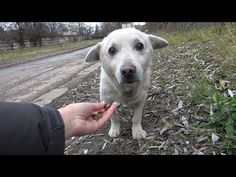
[[134,107],[134,117],[132,119],[132,135],[134,139],[146,138],[146,132],[141,125],[144,101],[137,103]]

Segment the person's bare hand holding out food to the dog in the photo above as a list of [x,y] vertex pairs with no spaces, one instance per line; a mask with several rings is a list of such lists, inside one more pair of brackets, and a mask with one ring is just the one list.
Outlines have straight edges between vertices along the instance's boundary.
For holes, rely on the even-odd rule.
[[[65,139],[96,132],[118,107],[113,103],[108,110],[105,110],[105,106],[105,102],[75,103],[58,109],[65,124]],[[93,113],[98,111],[104,111],[104,113],[100,119],[95,120]]]

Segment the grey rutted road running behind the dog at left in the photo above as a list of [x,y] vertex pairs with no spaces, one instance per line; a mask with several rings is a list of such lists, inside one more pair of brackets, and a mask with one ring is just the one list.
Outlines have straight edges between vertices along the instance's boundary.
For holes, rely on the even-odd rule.
[[76,75],[93,71],[98,64],[85,63],[91,47],[0,69],[0,100],[33,102],[39,105],[67,91],[65,85]]

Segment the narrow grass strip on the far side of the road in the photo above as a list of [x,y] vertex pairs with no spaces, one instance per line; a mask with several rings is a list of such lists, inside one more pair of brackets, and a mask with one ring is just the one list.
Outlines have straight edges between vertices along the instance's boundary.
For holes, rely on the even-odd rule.
[[25,58],[36,58],[40,56],[48,56],[58,52],[68,51],[80,47],[85,47],[97,43],[99,40],[85,40],[74,43],[66,43],[63,45],[49,45],[42,47],[30,47],[13,51],[0,52],[0,65],[13,62],[20,62]]

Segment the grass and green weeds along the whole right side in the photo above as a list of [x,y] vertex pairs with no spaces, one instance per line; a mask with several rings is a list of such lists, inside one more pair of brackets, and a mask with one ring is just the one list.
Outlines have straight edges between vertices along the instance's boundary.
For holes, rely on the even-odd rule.
[[189,50],[196,47],[194,44],[201,44],[198,55],[186,55],[187,60],[179,61],[180,77],[185,81],[178,90],[179,95],[191,102],[191,112],[197,112],[200,105],[205,106],[205,112],[201,110],[204,122],[197,124],[191,134],[208,132],[208,142],[211,142],[210,132],[215,132],[220,137],[220,151],[235,154],[236,96],[230,97],[228,89],[236,90],[236,23],[159,36],[167,39],[170,46],[184,44],[190,46]]

